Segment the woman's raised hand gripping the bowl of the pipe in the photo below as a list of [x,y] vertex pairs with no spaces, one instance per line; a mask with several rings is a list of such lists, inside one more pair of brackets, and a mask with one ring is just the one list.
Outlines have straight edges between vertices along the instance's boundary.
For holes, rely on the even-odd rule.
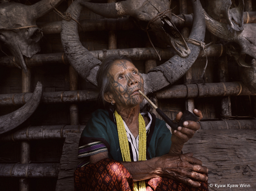
[[[199,121],[203,118],[202,112],[200,110],[194,109],[193,113],[195,113],[195,115],[200,118]],[[182,115],[182,112],[177,113],[175,121],[179,122]],[[199,129],[200,124],[198,122],[185,121],[182,127],[178,127],[178,130],[172,130],[172,145],[169,153],[180,154],[184,143],[191,139],[195,132]]]

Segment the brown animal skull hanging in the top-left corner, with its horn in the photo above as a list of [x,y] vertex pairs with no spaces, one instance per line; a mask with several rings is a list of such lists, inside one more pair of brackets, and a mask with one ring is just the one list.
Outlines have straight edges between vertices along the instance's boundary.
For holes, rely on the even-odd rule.
[[19,58],[24,71],[27,67],[23,55],[31,57],[40,51],[42,31],[36,26],[36,19],[53,9],[50,3],[56,6],[61,1],[42,0],[31,6],[14,2],[0,4],[0,43]]

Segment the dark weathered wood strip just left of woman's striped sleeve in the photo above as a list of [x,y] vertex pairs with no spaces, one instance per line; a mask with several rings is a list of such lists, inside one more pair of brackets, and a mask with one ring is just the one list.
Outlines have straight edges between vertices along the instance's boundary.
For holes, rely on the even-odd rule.
[[81,159],[77,159],[80,135],[81,133],[72,133],[65,138],[56,191],[74,190],[73,173],[76,165],[81,161]]

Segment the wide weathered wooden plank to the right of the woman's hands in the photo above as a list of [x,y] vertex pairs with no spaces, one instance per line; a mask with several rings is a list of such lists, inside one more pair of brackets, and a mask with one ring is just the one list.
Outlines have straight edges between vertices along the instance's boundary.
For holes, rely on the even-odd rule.
[[[199,130],[185,144],[183,152],[193,152],[207,166],[209,190],[256,189],[256,130]],[[215,188],[214,184],[238,184],[238,188]],[[249,184],[250,188],[240,188]]]

